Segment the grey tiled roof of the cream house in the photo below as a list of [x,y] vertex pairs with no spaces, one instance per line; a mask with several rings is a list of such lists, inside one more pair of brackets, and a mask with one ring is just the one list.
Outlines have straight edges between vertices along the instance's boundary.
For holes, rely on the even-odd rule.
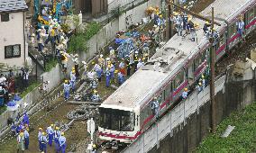
[[26,11],[28,9],[24,0],[0,0],[0,13]]

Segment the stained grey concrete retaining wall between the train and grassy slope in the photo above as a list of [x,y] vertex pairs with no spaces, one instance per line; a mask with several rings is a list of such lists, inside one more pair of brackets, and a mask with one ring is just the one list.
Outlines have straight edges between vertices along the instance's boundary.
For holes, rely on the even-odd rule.
[[[225,80],[221,77],[215,83],[217,124],[231,112],[253,103],[256,98],[255,78],[250,81],[227,83]],[[208,135],[211,122],[211,103],[207,86],[203,92],[189,95],[185,102],[179,103],[123,152],[192,152]]]

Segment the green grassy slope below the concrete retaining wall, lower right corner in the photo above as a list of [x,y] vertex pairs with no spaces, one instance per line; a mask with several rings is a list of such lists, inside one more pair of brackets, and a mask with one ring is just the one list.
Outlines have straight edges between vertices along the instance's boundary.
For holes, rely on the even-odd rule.
[[[221,135],[228,125],[235,126],[227,138]],[[256,103],[240,112],[233,112],[208,136],[196,152],[256,152]]]

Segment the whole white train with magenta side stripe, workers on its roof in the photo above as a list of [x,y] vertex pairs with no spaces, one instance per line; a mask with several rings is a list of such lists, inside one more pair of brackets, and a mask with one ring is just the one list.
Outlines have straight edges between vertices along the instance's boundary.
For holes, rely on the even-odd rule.
[[[216,0],[201,14],[209,16],[215,7],[219,40],[215,46],[216,61],[242,41],[236,30],[240,15],[245,23],[245,35],[255,30],[256,0]],[[210,19],[210,16],[209,16]],[[156,117],[151,112],[154,97],[160,102],[160,115],[180,100],[185,87],[197,84],[202,74],[208,75],[211,43],[200,25],[197,41],[173,36],[144,67],[125,81],[99,107],[99,138],[130,143],[146,130]],[[189,37],[189,36],[187,36]]]

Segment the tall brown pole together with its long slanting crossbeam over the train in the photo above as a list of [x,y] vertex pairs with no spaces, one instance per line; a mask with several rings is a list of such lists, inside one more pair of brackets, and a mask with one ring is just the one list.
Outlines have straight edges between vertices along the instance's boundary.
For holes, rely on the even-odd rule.
[[210,43],[211,43],[211,51],[210,51],[210,98],[211,98],[211,119],[212,119],[212,132],[215,132],[216,130],[216,124],[215,124],[215,46],[214,44],[214,28],[215,28],[215,24],[218,26],[221,26],[220,23],[216,23],[215,22],[215,12],[214,12],[214,7],[212,7],[212,19],[207,19],[205,16],[202,16],[200,14],[196,14],[193,13],[191,11],[188,11],[187,9],[184,9],[183,7],[180,7],[177,4],[173,4],[171,2],[169,2],[169,4],[174,5],[176,8],[178,8],[179,10],[186,12],[187,14],[191,14],[201,20],[207,21],[209,23],[211,23],[211,37],[209,39]]

